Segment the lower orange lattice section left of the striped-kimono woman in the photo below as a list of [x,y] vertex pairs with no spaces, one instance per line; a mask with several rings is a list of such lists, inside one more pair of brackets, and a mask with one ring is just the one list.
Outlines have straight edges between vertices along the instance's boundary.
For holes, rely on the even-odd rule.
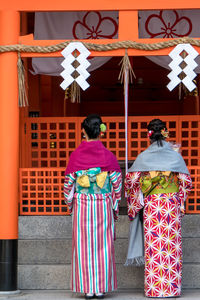
[[21,215],[67,215],[63,168],[20,169]]

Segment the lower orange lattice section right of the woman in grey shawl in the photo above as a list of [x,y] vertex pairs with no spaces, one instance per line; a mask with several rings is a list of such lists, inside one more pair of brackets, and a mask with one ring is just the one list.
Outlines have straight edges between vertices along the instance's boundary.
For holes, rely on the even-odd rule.
[[193,188],[186,201],[186,213],[200,213],[200,167],[190,167]]

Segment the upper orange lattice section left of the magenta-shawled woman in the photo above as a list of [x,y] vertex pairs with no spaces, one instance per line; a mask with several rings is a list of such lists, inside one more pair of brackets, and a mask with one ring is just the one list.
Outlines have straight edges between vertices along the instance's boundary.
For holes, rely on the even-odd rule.
[[[76,118],[26,119],[28,161],[25,166],[65,167],[69,155],[79,145],[80,128]],[[24,165],[23,165],[24,166]]]

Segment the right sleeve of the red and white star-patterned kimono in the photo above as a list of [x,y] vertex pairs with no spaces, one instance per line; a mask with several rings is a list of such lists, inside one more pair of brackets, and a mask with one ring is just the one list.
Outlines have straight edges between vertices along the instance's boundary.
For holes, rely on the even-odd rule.
[[184,202],[187,199],[188,193],[192,189],[192,179],[189,175],[179,173],[178,174],[179,179],[179,202],[180,202],[180,210],[181,214],[185,214],[185,206]]

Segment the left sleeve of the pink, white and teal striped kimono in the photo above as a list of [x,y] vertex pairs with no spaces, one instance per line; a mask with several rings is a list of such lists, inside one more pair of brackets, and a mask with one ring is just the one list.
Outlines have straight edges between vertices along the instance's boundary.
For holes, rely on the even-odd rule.
[[70,173],[65,175],[64,199],[65,199],[65,203],[69,207],[70,214],[72,213],[72,209],[73,209],[73,194],[74,194],[75,180],[76,180],[75,173]]

